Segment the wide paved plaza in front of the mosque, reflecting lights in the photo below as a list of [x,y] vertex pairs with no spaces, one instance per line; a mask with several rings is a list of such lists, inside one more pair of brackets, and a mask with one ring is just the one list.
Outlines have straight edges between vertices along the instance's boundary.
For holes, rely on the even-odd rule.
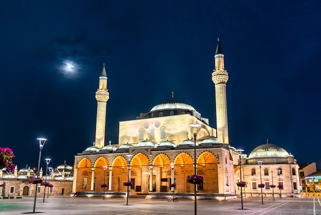
[[[28,214],[33,211],[34,197],[0,200],[0,214]],[[321,197],[263,198],[231,201],[197,200],[197,214],[321,214]],[[166,199],[49,197],[37,198],[35,213],[41,214],[194,214],[194,201],[168,202]]]

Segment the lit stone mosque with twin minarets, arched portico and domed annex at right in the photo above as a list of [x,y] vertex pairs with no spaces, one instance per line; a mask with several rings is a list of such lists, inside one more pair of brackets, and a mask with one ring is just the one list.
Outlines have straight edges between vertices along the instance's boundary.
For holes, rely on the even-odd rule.
[[265,185],[266,196],[274,191],[283,196],[299,195],[299,166],[285,149],[267,141],[247,156],[229,144],[226,94],[229,76],[219,40],[214,61],[216,129],[194,107],[176,100],[172,93],[170,100],[156,104],[148,113],[119,122],[117,145],[105,144],[109,92],[104,65],[95,93],[95,142],[75,155],[72,192],[79,196],[103,196],[106,189],[107,197],[124,197],[127,186],[123,183],[131,181],[131,196],[162,198],[171,195],[169,185],[175,183],[176,195],[193,198],[194,185],[186,179],[194,175],[196,161],[196,175],[204,178],[197,185],[197,199],[236,198],[240,194],[240,187],[236,186],[239,181],[246,182],[244,195],[259,195],[258,184]]

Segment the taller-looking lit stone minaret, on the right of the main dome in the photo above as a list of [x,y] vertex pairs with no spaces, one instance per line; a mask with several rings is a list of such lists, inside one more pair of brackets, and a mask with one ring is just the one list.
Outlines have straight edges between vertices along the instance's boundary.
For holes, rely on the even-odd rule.
[[215,84],[217,139],[221,143],[229,144],[226,102],[226,82],[229,76],[224,68],[224,54],[218,38],[214,58],[215,69],[212,73],[212,80]]

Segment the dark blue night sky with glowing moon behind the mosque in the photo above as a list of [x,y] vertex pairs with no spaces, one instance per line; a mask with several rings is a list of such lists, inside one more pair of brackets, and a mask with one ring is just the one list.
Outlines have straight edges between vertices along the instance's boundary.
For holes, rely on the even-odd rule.
[[34,167],[43,137],[43,167],[73,165],[95,141],[103,63],[106,144],[172,91],[216,128],[219,37],[230,145],[249,155],[268,138],[319,168],[320,11],[320,1],[1,1],[0,147]]

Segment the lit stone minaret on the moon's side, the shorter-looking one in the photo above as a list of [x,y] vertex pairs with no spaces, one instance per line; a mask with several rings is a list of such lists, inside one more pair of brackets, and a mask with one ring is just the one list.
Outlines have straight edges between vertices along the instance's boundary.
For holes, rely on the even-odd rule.
[[109,99],[105,63],[101,76],[99,76],[99,88],[95,97],[97,100],[95,146],[102,148],[105,146],[106,106]]

